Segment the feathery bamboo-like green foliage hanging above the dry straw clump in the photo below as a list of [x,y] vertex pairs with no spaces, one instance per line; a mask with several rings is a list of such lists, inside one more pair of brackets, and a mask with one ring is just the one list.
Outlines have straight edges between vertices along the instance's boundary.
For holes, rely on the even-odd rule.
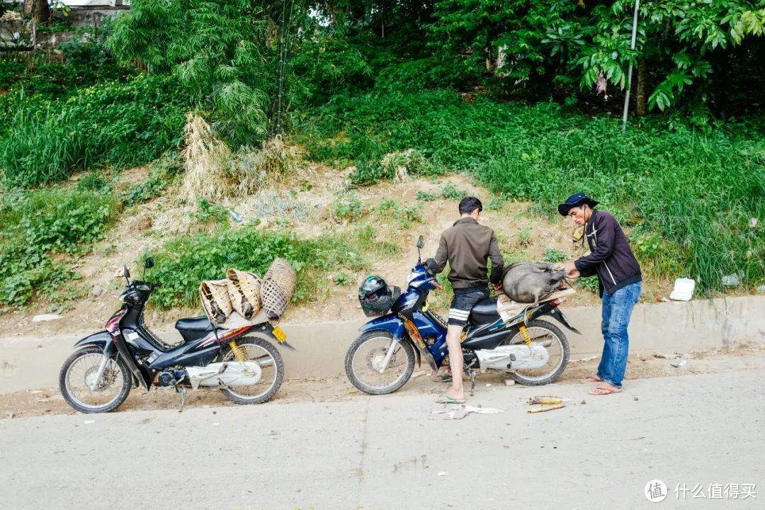
[[[134,0],[109,48],[123,61],[174,73],[216,135],[257,145],[269,131],[283,2]],[[285,13],[281,13],[286,15]]]

